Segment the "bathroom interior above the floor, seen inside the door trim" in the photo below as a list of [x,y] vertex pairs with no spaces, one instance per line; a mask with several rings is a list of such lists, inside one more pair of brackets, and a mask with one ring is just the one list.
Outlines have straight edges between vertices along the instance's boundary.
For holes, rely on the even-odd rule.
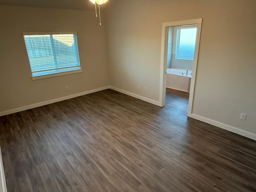
[[166,88],[190,92],[197,25],[167,27]]

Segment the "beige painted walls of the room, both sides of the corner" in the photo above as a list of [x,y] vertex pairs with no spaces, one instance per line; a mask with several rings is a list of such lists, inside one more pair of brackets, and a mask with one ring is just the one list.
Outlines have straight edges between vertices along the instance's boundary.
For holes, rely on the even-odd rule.
[[[192,113],[256,134],[255,0],[111,0],[106,12],[99,27],[93,11],[0,6],[0,112],[108,85],[158,102],[162,23],[203,18]],[[43,31],[77,31],[82,73],[31,80],[22,32]]]

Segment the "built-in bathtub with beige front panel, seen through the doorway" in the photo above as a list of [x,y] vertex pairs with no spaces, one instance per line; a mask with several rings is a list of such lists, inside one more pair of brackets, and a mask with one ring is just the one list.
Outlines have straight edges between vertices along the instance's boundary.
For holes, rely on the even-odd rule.
[[166,71],[166,87],[184,92],[190,92],[192,70],[168,68]]

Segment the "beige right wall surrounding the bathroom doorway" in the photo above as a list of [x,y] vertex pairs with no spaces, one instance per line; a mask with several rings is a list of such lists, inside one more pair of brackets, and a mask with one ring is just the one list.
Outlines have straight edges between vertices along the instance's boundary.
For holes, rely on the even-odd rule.
[[162,23],[203,18],[192,113],[256,134],[255,0],[112,0],[106,16],[111,86],[156,101]]

